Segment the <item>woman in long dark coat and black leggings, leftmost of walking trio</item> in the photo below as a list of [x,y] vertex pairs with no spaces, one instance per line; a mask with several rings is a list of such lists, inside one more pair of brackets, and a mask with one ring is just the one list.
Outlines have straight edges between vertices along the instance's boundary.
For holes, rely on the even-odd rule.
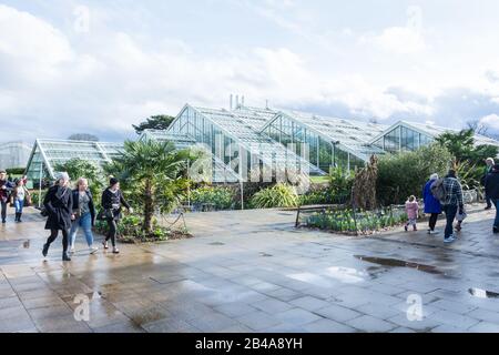
[[60,173],[57,183],[49,189],[43,206],[49,217],[47,219],[45,230],[50,230],[50,236],[43,245],[43,256],[49,253],[50,244],[58,237],[59,231],[62,232],[62,261],[70,262],[68,255],[68,232],[71,227],[71,216],[73,212],[73,194],[69,184],[68,173]]

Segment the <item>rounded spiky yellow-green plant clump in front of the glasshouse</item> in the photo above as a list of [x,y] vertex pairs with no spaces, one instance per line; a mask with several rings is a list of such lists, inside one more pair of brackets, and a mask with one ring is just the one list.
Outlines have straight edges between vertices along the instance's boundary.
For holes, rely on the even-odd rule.
[[255,209],[294,207],[298,205],[295,187],[283,183],[255,193],[251,200]]

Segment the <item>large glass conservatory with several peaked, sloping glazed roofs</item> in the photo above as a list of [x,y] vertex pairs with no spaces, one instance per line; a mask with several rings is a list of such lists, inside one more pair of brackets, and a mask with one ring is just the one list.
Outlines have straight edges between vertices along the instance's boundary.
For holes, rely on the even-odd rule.
[[[364,166],[370,155],[414,151],[446,128],[399,121],[391,126],[312,113],[237,105],[210,109],[186,104],[167,130],[145,131],[141,139],[172,141],[197,149],[203,179],[213,182],[275,181],[278,176],[326,175],[332,166]],[[476,144],[498,145],[476,134]],[[37,140],[28,163],[31,181],[54,176],[55,165],[81,158],[101,165],[122,143]],[[197,169],[197,166],[191,166]],[[206,170],[208,172],[206,173]],[[293,174],[289,174],[293,173]],[[255,180],[256,176],[256,180]]]

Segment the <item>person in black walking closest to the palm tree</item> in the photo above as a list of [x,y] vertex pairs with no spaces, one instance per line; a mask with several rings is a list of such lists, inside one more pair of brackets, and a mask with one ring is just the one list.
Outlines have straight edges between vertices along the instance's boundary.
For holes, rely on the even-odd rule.
[[104,248],[109,248],[108,241],[111,240],[113,245],[113,253],[118,254],[120,251],[116,247],[116,231],[118,223],[121,219],[121,209],[125,206],[130,213],[133,213],[132,207],[123,197],[123,193],[120,190],[120,182],[115,178],[111,178],[109,187],[102,193],[102,209],[104,219],[108,221],[109,233],[105,241],[102,243]]

